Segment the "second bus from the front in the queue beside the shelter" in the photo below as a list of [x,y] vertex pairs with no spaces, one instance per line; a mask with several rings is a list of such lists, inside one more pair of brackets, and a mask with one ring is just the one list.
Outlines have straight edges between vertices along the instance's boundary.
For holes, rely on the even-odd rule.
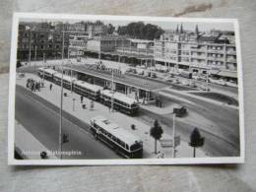
[[79,95],[87,96],[94,100],[99,100],[100,91],[103,88],[87,82],[78,80],[74,82],[73,91]]

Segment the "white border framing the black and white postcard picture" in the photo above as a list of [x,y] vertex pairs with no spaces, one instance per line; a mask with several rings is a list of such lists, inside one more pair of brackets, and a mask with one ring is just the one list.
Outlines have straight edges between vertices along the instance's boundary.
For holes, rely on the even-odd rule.
[[[149,22],[211,22],[232,23],[235,32],[238,98],[239,98],[239,141],[240,157],[228,158],[176,158],[176,159],[142,159],[142,160],[15,160],[14,136],[15,136],[15,85],[16,85],[16,57],[18,25],[20,19],[45,19],[45,20],[108,20],[108,21],[149,21]],[[42,13],[14,13],[12,25],[12,44],[10,58],[9,80],[9,111],[8,111],[8,164],[31,165],[103,165],[103,164],[205,164],[205,163],[243,163],[244,162],[244,101],[243,101],[243,75],[241,64],[241,48],[239,25],[236,19],[199,19],[199,18],[169,18],[169,17],[135,17],[135,16],[106,16],[106,15],[64,15]]]

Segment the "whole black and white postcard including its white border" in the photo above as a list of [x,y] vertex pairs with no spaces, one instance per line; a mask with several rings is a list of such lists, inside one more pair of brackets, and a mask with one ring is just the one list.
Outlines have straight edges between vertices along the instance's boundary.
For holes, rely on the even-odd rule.
[[238,21],[15,13],[9,164],[244,162]]

